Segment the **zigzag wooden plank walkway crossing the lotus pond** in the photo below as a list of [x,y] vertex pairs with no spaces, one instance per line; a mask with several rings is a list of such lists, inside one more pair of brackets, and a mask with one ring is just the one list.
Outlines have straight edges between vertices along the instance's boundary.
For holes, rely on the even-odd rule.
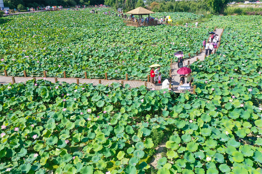
[[[224,29],[215,29],[214,30],[216,32],[216,34],[218,34],[218,36],[221,39],[221,35],[224,31]],[[219,40],[220,40],[219,39]],[[219,45],[218,45],[219,46]],[[215,50],[213,50],[212,53]],[[193,62],[197,61],[197,60],[204,60],[205,59],[205,52],[204,50],[201,52],[200,54],[193,56],[189,59],[186,59],[185,62],[188,62],[187,66],[190,66],[190,64],[192,64]],[[185,92],[184,90],[178,90],[177,88],[179,87],[179,74],[177,73],[178,67],[177,67],[177,62],[171,61],[170,64],[171,70],[170,70],[170,75],[172,76],[172,90],[175,93],[183,93]],[[25,73],[25,71],[24,71]],[[120,83],[120,84],[129,84],[129,86],[131,88],[136,88],[136,87],[140,87],[142,85],[146,86],[148,88],[148,90],[161,90],[162,84],[152,84],[150,82],[146,82],[143,80],[106,80],[106,79],[87,79],[87,78],[73,78],[73,77],[68,77],[68,78],[56,78],[56,77],[13,77],[13,76],[7,76],[8,74],[5,73],[5,76],[0,76],[0,84],[14,84],[14,83],[25,83],[28,80],[48,80],[52,83],[55,82],[66,82],[69,84],[72,83],[76,83],[76,84],[93,84],[93,85],[97,85],[97,84],[104,84],[104,85],[111,85],[112,83]],[[45,73],[43,75],[46,75]],[[66,77],[65,72],[64,72],[64,77]],[[191,89],[189,90],[190,93],[194,93],[194,89],[196,88],[196,86],[191,86]]]

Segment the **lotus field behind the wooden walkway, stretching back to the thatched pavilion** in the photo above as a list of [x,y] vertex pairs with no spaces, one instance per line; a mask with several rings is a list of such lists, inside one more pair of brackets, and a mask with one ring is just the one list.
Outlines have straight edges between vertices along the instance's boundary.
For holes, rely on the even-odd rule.
[[[110,9],[106,9],[110,10]],[[158,63],[167,77],[177,49],[196,54],[208,29],[170,26],[126,27],[122,18],[89,11],[57,11],[14,15],[1,19],[0,71],[9,75],[145,79],[150,65]],[[204,35],[206,37],[207,35]],[[188,56],[187,56],[188,57]],[[41,73],[41,74],[39,74]],[[110,79],[110,78],[109,78]]]

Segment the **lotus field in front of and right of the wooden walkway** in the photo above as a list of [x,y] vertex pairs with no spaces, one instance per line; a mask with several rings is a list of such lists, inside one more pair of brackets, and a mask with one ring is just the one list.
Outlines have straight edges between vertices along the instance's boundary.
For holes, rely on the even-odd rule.
[[158,174],[261,174],[261,21],[215,16],[201,24],[225,31],[217,54],[191,65],[196,94],[44,80],[1,85],[0,172],[153,173],[155,132],[164,132]]

